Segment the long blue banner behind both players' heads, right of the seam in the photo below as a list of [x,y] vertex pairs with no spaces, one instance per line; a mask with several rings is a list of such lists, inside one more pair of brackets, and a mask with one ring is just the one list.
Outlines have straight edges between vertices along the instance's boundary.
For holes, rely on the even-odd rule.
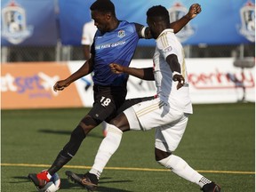
[[[91,20],[90,5],[94,0],[59,0],[60,36],[62,44],[81,44],[84,22]],[[177,36],[182,44],[252,44],[255,42],[255,0],[140,0],[118,1],[116,15],[146,25],[146,12],[153,5],[162,4],[170,12],[171,20],[178,20],[188,12],[191,4],[201,4],[202,12]],[[140,45],[154,45],[154,40],[140,40]]]

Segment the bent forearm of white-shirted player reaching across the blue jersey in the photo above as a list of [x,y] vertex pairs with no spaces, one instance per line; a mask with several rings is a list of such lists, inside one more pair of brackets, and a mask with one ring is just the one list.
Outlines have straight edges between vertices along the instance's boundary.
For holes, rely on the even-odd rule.
[[153,68],[127,68],[116,63],[111,63],[109,67],[111,68],[111,71],[116,74],[127,73],[131,76],[136,76],[140,79],[148,81],[155,80]]

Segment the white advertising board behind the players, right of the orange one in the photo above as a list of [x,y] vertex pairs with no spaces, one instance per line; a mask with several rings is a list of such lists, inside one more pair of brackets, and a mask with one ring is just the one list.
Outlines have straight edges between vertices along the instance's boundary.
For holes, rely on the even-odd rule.
[[[187,59],[191,100],[199,103],[255,102],[255,67],[236,68],[232,58]],[[68,68],[74,73],[84,64],[83,60],[69,61]],[[152,67],[152,60],[132,60],[131,67]],[[76,88],[84,107],[92,107],[92,76],[76,81]],[[144,81],[130,76],[127,84],[129,98],[156,94],[154,81]]]

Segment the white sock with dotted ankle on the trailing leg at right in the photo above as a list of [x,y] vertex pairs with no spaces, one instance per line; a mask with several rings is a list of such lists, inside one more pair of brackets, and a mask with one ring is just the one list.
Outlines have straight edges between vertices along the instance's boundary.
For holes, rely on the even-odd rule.
[[172,172],[179,175],[181,178],[196,183],[201,188],[203,188],[204,184],[211,182],[211,180],[207,180],[203,175],[192,169],[180,156],[171,155],[158,161],[158,163],[171,169]]

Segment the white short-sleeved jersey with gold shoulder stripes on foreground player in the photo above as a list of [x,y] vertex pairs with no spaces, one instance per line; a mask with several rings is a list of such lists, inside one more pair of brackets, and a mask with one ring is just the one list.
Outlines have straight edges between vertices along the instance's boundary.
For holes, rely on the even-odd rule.
[[[177,55],[180,63],[181,75],[185,78],[185,84],[179,90],[178,82],[172,81],[172,70],[166,62],[170,54]],[[157,96],[171,108],[192,114],[192,104],[189,96],[188,73],[185,64],[184,51],[178,38],[171,28],[165,29],[156,39],[156,51],[154,54],[154,76],[156,81]]]

